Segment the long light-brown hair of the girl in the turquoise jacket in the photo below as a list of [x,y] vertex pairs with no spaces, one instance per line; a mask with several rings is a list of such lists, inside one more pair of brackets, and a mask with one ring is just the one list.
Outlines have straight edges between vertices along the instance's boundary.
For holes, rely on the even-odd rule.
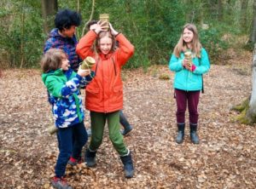
[[[193,25],[193,24],[186,24],[185,26],[183,26],[183,31],[185,29],[188,29],[189,31],[192,31],[193,34],[194,34],[194,37],[192,39],[192,42],[191,42],[191,46],[192,46],[192,49],[190,49],[193,53],[195,53],[195,55],[198,57],[198,58],[201,58],[201,43],[199,42],[199,38],[198,38],[198,32],[197,32],[197,29],[196,29],[196,26]],[[173,54],[176,55],[176,57],[180,57],[180,54],[182,52],[185,52],[188,50],[188,47],[186,45],[186,43],[184,42],[183,40],[183,31],[181,33],[181,36],[177,42],[177,45],[175,46],[174,50],[173,50]]]

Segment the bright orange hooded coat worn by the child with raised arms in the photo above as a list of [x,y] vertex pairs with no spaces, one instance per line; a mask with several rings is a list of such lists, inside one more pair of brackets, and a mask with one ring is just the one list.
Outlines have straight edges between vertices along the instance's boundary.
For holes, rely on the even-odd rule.
[[96,76],[86,87],[85,107],[93,112],[115,112],[123,109],[123,83],[121,79],[121,66],[124,66],[134,53],[133,45],[119,33],[119,49],[113,53],[96,54],[92,45],[96,40],[96,32],[88,31],[77,45],[76,52],[84,60],[92,56],[96,60],[92,71]]

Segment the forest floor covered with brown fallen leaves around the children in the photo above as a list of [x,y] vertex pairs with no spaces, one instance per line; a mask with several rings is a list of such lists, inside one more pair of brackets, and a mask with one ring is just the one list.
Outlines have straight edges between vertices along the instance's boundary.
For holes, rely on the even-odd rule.
[[[237,113],[230,111],[251,93],[251,64],[251,53],[234,54],[204,76],[199,145],[190,142],[188,127],[183,144],[175,142],[168,66],[125,70],[124,112],[134,127],[125,143],[132,151],[134,178],[125,179],[106,128],[96,168],[68,167],[68,182],[74,188],[255,188],[256,127],[234,122]],[[161,80],[162,74],[171,79]],[[40,72],[4,70],[0,88],[0,188],[51,188],[58,150],[55,135],[47,132],[53,123]],[[84,122],[88,127],[88,112]]]

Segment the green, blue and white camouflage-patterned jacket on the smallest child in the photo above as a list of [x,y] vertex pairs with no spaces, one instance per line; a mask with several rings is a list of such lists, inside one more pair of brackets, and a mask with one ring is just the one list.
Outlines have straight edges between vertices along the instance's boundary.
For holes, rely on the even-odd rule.
[[84,121],[82,97],[79,91],[80,84],[90,82],[89,77],[80,77],[72,69],[63,72],[62,69],[44,73],[44,85],[49,91],[52,102],[52,112],[57,128],[71,127]]

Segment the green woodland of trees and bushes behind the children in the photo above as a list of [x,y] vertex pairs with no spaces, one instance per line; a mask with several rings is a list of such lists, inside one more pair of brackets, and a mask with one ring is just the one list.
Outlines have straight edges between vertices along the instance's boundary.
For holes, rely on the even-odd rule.
[[[110,14],[117,31],[136,47],[127,64],[135,68],[166,64],[187,22],[195,23],[213,64],[229,59],[226,49],[253,49],[255,0],[2,0],[0,2],[1,67],[39,67],[47,33],[57,9],[78,10],[84,24]],[[208,29],[203,29],[208,26]]]

